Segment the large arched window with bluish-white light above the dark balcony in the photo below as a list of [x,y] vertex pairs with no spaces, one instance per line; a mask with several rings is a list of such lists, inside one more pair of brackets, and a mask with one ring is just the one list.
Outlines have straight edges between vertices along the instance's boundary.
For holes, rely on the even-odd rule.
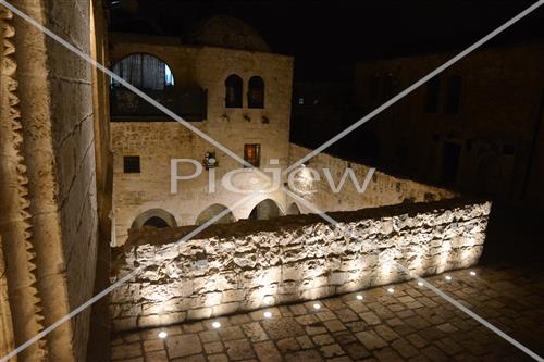
[[[113,73],[140,89],[162,90],[174,85],[170,67],[151,54],[135,53],[125,57],[113,65]],[[115,79],[112,79],[112,86],[122,87]]]

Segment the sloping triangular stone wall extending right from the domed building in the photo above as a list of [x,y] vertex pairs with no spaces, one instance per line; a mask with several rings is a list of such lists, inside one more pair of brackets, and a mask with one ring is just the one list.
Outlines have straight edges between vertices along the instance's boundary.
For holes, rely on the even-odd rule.
[[[290,143],[289,163],[293,164],[311,150]],[[293,185],[298,196],[311,202],[323,211],[351,211],[366,208],[378,208],[403,202],[429,202],[449,199],[457,194],[445,188],[417,183],[406,178],[398,178],[375,171],[364,192],[359,192],[354,183],[347,178],[345,186],[334,194],[326,180],[323,170],[330,170],[334,184],[337,186],[342,175],[349,168],[354,172],[360,185],[363,184],[370,167],[360,163],[349,162],[326,153],[319,153],[309,160],[307,167],[294,171]],[[319,179],[312,176],[309,170],[319,174]],[[294,202],[302,213],[314,212],[304,203],[289,198],[289,205]]]

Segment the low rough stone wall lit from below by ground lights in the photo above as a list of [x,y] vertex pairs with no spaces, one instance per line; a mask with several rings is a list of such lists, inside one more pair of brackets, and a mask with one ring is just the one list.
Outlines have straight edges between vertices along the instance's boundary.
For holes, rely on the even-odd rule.
[[[318,215],[212,225],[173,245],[191,227],[134,234],[116,276],[139,275],[112,292],[116,330],[168,325],[264,305],[349,292],[468,267],[483,249],[491,204],[470,200],[400,204]],[[217,236],[219,235],[219,236]],[[160,241],[158,241],[160,240]]]

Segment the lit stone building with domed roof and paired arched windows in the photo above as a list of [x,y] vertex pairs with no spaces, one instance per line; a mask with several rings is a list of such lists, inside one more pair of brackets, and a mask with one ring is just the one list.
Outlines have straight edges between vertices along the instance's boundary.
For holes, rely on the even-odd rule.
[[[272,53],[250,26],[215,16],[183,41],[114,34],[110,54],[120,76],[240,158],[261,170],[286,166],[293,58]],[[115,83],[111,96],[114,245],[123,244],[132,227],[201,224],[238,200],[220,179],[242,164]],[[172,159],[203,165],[200,176],[181,180],[175,194]],[[177,172],[188,175],[195,167],[182,163]],[[210,175],[218,182],[214,194],[208,190]],[[264,182],[251,171],[233,177],[240,188],[263,188]],[[222,221],[285,213],[283,192],[263,192]]]

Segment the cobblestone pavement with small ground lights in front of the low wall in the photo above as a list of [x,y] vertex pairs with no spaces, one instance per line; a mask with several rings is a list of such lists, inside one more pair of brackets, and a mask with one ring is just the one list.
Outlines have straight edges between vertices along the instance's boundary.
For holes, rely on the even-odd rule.
[[[544,357],[543,265],[484,266],[428,280]],[[314,309],[314,303],[321,308]],[[265,311],[272,313],[270,319]],[[213,322],[221,327],[213,328]],[[168,333],[165,339],[158,338],[161,330]],[[125,333],[112,339],[112,360],[532,361],[416,282]]]

